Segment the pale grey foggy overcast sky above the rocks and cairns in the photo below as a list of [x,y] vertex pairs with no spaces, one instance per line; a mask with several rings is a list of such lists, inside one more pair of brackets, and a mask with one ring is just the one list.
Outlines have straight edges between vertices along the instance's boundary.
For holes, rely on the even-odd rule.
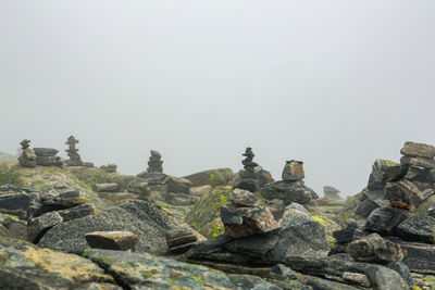
[[435,144],[435,1],[0,1],[0,151],[22,139],[166,174],[241,168],[355,194]]

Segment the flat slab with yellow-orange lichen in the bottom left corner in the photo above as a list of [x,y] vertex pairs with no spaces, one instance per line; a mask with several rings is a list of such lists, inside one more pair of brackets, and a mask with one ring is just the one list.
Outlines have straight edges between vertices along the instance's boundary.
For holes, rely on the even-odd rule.
[[91,261],[75,254],[38,249],[32,243],[0,237],[0,289],[76,289],[92,282],[112,282]]

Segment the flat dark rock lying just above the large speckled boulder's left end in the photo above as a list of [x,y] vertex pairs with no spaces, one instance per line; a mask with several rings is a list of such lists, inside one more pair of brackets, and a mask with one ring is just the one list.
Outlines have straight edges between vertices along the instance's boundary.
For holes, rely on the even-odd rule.
[[42,204],[50,210],[64,210],[86,202],[85,196],[75,189],[66,189],[61,192],[52,190],[40,199]]

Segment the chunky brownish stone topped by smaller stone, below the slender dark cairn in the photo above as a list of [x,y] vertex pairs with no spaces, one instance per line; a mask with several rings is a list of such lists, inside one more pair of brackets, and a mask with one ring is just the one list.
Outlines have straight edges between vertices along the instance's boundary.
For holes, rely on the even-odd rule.
[[256,198],[252,192],[236,189],[229,197],[229,201],[231,204],[221,207],[221,219],[227,237],[248,237],[279,227],[279,223],[269,210],[253,206]]

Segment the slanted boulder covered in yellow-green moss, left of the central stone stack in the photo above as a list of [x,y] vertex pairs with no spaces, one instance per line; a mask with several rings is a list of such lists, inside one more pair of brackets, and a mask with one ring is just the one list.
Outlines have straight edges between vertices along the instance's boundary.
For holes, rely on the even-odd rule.
[[231,187],[216,187],[206,193],[186,215],[185,222],[208,238],[224,234],[220,210],[232,192]]

